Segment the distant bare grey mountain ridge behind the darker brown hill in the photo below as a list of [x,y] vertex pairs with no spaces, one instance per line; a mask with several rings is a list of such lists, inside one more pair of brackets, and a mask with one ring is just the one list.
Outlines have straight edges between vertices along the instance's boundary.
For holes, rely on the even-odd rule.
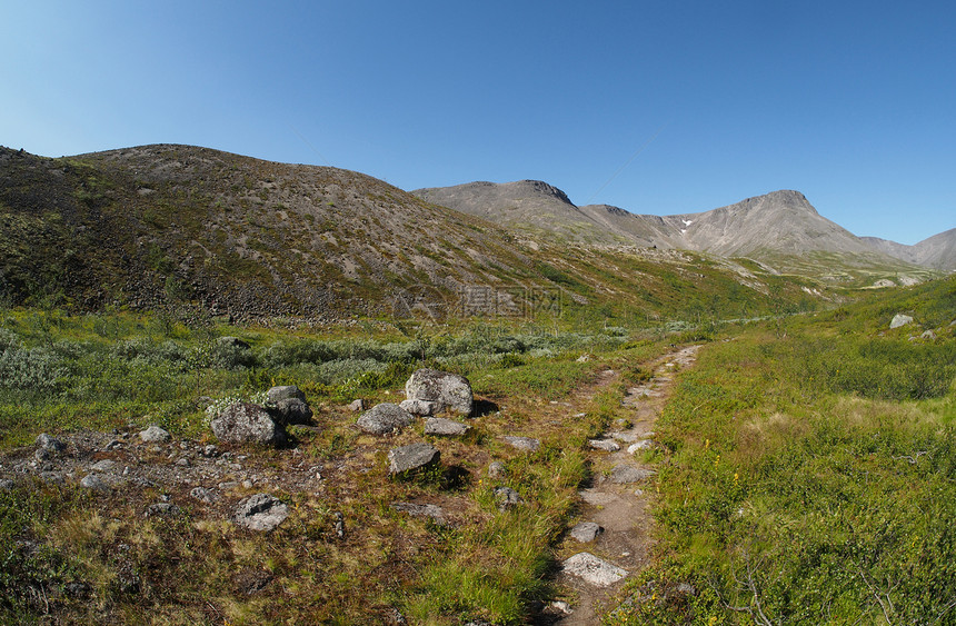
[[909,265],[956,269],[956,229],[914,247],[857,237],[820,216],[803,193],[794,190],[671,216],[637,215],[608,205],[576,207],[557,188],[530,180],[466,183],[412,193],[529,235],[550,231],[585,244],[676,248],[776,264],[784,258],[823,254],[840,255],[860,266],[903,261],[902,269]]

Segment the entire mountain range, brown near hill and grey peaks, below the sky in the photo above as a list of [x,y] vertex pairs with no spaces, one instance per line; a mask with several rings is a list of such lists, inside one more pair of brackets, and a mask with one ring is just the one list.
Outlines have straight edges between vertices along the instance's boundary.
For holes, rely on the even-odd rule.
[[562,316],[746,317],[932,278],[954,268],[953,237],[857,238],[796,191],[638,216],[576,207],[540,181],[411,193],[190,146],[57,159],[0,148],[8,306],[321,322],[527,312],[559,298]]

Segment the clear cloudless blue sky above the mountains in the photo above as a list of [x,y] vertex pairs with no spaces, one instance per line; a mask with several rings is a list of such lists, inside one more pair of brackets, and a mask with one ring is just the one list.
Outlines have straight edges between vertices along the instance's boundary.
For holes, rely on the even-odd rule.
[[856,235],[956,227],[952,0],[9,0],[0,59],[0,145],[43,156],[190,143],[657,215],[797,189]]

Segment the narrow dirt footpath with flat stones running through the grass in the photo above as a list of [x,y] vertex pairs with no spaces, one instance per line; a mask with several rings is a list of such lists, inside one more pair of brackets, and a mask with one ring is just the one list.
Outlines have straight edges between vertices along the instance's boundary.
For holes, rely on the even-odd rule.
[[[592,541],[579,543],[569,537],[566,546],[577,553],[589,553],[611,567],[611,577],[624,576],[618,582],[601,586],[588,582],[567,569],[557,579],[558,585],[574,598],[571,613],[552,622],[562,626],[589,626],[600,623],[600,615],[609,606],[607,602],[628,576],[639,572],[647,563],[651,548],[650,529],[653,518],[649,513],[653,477],[648,480],[631,481],[635,470],[638,475],[653,471],[650,466],[637,461],[628,448],[635,445],[654,445],[654,427],[657,417],[670,396],[674,372],[694,365],[699,346],[675,350],[654,361],[653,377],[649,381],[628,389],[624,406],[630,409],[627,419],[630,428],[610,430],[605,440],[614,440],[620,449],[591,451],[594,464],[594,485],[580,491],[581,519],[598,524],[604,530]],[[644,441],[641,444],[641,441]],[[615,470],[615,468],[619,468]],[[625,471],[630,471],[628,476]],[[621,479],[624,479],[621,481]],[[588,567],[591,573],[599,567]]]

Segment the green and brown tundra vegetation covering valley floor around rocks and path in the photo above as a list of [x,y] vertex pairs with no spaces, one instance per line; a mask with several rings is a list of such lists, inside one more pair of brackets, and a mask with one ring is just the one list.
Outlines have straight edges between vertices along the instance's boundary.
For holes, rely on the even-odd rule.
[[[956,280],[878,296],[751,321],[701,311],[693,325],[333,332],[4,309],[3,466],[31,458],[40,433],[120,437],[156,424],[215,444],[208,407],[297,385],[316,415],[315,427],[289,427],[293,447],[220,453],[263,475],[295,464],[319,476],[272,489],[290,514],[259,534],[226,506],[258,487],[207,506],[172,484],[97,491],[33,473],[0,489],[0,622],[387,624],[398,612],[416,624],[526,623],[560,593],[551,582],[580,518],[588,439],[627,417],[620,399],[646,364],[704,342],[658,421],[664,448],[639,453],[659,471],[653,563],[605,620],[956,623]],[[914,324],[889,330],[897,312]],[[400,400],[421,366],[470,379],[481,408],[465,436],[355,428],[351,400]],[[607,369],[619,380],[598,388]],[[505,435],[541,446],[515,450]],[[441,465],[389,477],[388,448],[422,439]],[[170,465],[166,453],[143,463]],[[500,486],[521,504],[499,507]],[[173,515],[143,514],[167,499]],[[397,501],[440,504],[447,523]]]

